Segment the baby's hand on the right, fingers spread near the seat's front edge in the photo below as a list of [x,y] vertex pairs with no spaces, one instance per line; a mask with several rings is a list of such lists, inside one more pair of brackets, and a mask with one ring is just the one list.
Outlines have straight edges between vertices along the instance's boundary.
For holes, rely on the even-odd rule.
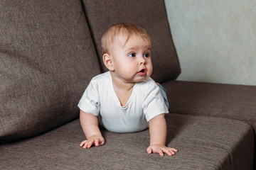
[[171,147],[166,147],[165,145],[150,145],[147,149],[146,152],[149,154],[151,153],[158,153],[161,156],[164,156],[164,153],[168,154],[169,156],[174,155],[175,152],[178,152],[177,149],[171,148]]

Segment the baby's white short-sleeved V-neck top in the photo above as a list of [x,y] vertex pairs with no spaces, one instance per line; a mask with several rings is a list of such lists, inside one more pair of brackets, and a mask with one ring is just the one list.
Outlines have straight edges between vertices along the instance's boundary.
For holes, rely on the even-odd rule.
[[150,77],[135,84],[126,106],[121,106],[110,72],[92,78],[78,107],[96,115],[99,123],[112,132],[138,132],[148,127],[151,118],[169,113],[159,86]]

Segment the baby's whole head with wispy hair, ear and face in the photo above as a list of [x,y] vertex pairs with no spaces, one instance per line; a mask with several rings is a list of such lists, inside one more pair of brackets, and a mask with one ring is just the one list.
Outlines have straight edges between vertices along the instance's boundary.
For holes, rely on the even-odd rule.
[[151,40],[143,28],[118,23],[102,35],[103,61],[112,77],[139,82],[151,76]]

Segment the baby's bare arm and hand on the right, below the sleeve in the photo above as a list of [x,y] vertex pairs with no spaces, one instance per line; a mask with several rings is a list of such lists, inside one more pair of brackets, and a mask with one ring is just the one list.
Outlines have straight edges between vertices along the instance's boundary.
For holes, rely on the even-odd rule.
[[178,152],[177,149],[166,147],[166,120],[164,114],[157,115],[155,118],[149,120],[149,134],[150,134],[150,145],[146,149],[146,152],[159,153],[164,156],[164,153],[168,155],[173,155]]

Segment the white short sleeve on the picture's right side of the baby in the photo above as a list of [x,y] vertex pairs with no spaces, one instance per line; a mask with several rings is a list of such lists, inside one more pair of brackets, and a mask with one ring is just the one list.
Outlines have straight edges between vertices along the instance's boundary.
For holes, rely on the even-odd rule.
[[164,98],[161,96],[161,91],[159,86],[152,86],[149,91],[146,92],[145,100],[142,105],[146,120],[149,122],[156,115],[162,113],[169,113],[166,104],[164,103]]

